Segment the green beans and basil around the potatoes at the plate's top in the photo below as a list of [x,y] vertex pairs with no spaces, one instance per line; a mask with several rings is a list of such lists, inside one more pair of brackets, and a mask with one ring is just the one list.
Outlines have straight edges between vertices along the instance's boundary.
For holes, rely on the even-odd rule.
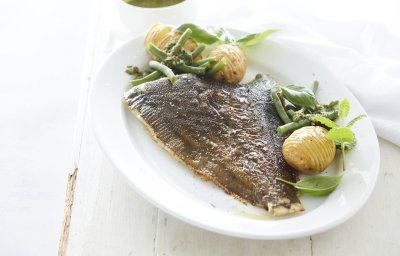
[[[175,74],[180,73],[213,76],[223,70],[230,62],[228,57],[217,59],[215,56],[202,58],[195,62],[195,58],[202,54],[206,49],[206,45],[216,43],[251,46],[258,43],[269,34],[276,32],[276,30],[270,29],[259,34],[251,34],[242,37],[236,41],[235,37],[230,34],[229,31],[221,27],[201,27],[196,24],[186,23],[180,25],[175,31],[182,33],[178,41],[169,45],[163,45],[163,49],[158,48],[155,44],[151,43],[151,41],[147,42],[146,47],[148,52],[158,61],[157,63],[150,62],[149,66],[152,68],[151,71],[140,72],[139,69],[133,68],[132,66],[127,67],[126,73],[132,76],[132,85],[136,86],[144,82],[149,82],[158,79],[162,75],[167,76],[172,83],[176,81]],[[175,33],[174,36],[178,34],[179,33]],[[192,51],[188,51],[187,48],[184,47],[189,39],[198,44]],[[154,70],[159,72],[154,73]],[[148,75],[150,72],[153,73]]]

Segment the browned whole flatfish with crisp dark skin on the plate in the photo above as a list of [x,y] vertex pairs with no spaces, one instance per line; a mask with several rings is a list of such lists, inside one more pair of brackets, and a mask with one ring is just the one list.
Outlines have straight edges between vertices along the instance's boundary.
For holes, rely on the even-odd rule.
[[175,84],[163,78],[134,87],[124,100],[175,158],[226,193],[281,216],[303,206],[296,189],[275,179],[297,181],[276,131],[274,84],[266,75],[229,85],[183,74]]

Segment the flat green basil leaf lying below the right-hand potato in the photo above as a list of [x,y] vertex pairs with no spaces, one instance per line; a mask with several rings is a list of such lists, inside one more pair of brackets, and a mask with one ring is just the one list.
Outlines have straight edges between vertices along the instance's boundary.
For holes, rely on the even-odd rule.
[[296,183],[276,178],[286,184],[292,185],[301,192],[314,196],[325,196],[330,194],[339,185],[342,176],[311,176]]

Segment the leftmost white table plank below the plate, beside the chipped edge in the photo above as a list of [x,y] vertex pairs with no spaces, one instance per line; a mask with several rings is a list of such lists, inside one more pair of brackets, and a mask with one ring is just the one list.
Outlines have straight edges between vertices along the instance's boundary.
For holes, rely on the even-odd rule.
[[152,255],[157,215],[85,136],[68,255]]

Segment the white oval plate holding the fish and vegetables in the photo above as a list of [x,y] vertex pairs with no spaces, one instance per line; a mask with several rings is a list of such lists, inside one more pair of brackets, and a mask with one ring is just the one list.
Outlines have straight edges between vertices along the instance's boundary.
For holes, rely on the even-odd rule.
[[[264,40],[249,48],[247,56],[245,81],[256,73],[270,74],[278,83],[311,85],[318,80],[320,102],[347,98],[351,103],[350,118],[365,113],[342,82],[299,50]],[[195,176],[159,147],[122,103],[122,95],[130,87],[125,66],[146,67],[148,60],[143,35],[111,53],[94,80],[90,107],[94,131],[105,154],[127,182],[160,209],[187,223],[226,235],[289,239],[337,226],[366,202],[379,171],[378,141],[368,119],[354,126],[358,145],[347,154],[341,184],[327,197],[301,196],[306,211],[300,214],[272,218],[264,209],[244,205]],[[327,173],[337,174],[339,169],[337,158]]]

